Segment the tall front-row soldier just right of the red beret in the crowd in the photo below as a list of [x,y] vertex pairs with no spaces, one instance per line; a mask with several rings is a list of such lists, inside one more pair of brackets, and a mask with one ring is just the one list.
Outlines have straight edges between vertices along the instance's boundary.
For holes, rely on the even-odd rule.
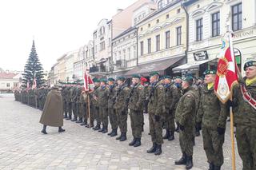
[[165,91],[160,83],[159,73],[150,73],[150,94],[149,94],[149,121],[150,136],[153,146],[147,150],[148,153],[160,155],[162,153],[162,117],[166,112],[165,108]]

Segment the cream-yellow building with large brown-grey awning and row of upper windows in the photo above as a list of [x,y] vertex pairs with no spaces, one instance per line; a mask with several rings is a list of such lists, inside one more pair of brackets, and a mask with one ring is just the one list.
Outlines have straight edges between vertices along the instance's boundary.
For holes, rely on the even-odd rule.
[[138,23],[138,65],[126,75],[151,71],[173,76],[186,62],[186,12],[181,0],[158,0],[158,10]]

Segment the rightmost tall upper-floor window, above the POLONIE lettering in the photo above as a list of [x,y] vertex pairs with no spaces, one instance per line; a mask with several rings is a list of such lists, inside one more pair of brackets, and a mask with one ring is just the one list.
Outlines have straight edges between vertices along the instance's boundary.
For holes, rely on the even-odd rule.
[[232,6],[232,30],[242,29],[242,3]]

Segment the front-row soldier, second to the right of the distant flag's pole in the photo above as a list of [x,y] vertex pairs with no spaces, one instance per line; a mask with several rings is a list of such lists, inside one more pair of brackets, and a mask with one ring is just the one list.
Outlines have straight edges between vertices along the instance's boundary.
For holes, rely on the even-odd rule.
[[108,114],[107,114],[107,105],[110,89],[106,85],[106,79],[101,78],[101,85],[98,89],[98,107],[99,107],[99,117],[102,122],[102,128],[98,130],[98,132],[106,133],[108,132]]

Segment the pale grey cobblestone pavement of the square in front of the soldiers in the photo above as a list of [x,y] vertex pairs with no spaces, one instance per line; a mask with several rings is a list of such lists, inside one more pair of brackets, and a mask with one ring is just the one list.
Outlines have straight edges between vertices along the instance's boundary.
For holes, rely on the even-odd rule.
[[[43,135],[42,125],[38,123],[40,115],[41,111],[14,101],[12,95],[0,97],[0,169],[185,169],[174,165],[174,160],[181,156],[178,133],[174,141],[165,140],[161,156],[146,153],[151,147],[147,115],[142,146],[138,148],[128,145],[132,139],[130,128],[128,140],[124,142],[70,121],[64,121],[66,132],[47,128],[48,135]],[[229,134],[226,134],[224,154],[222,169],[229,170]],[[236,164],[237,169],[242,169],[238,153]],[[192,169],[206,170],[207,167],[200,136],[196,138]]]

